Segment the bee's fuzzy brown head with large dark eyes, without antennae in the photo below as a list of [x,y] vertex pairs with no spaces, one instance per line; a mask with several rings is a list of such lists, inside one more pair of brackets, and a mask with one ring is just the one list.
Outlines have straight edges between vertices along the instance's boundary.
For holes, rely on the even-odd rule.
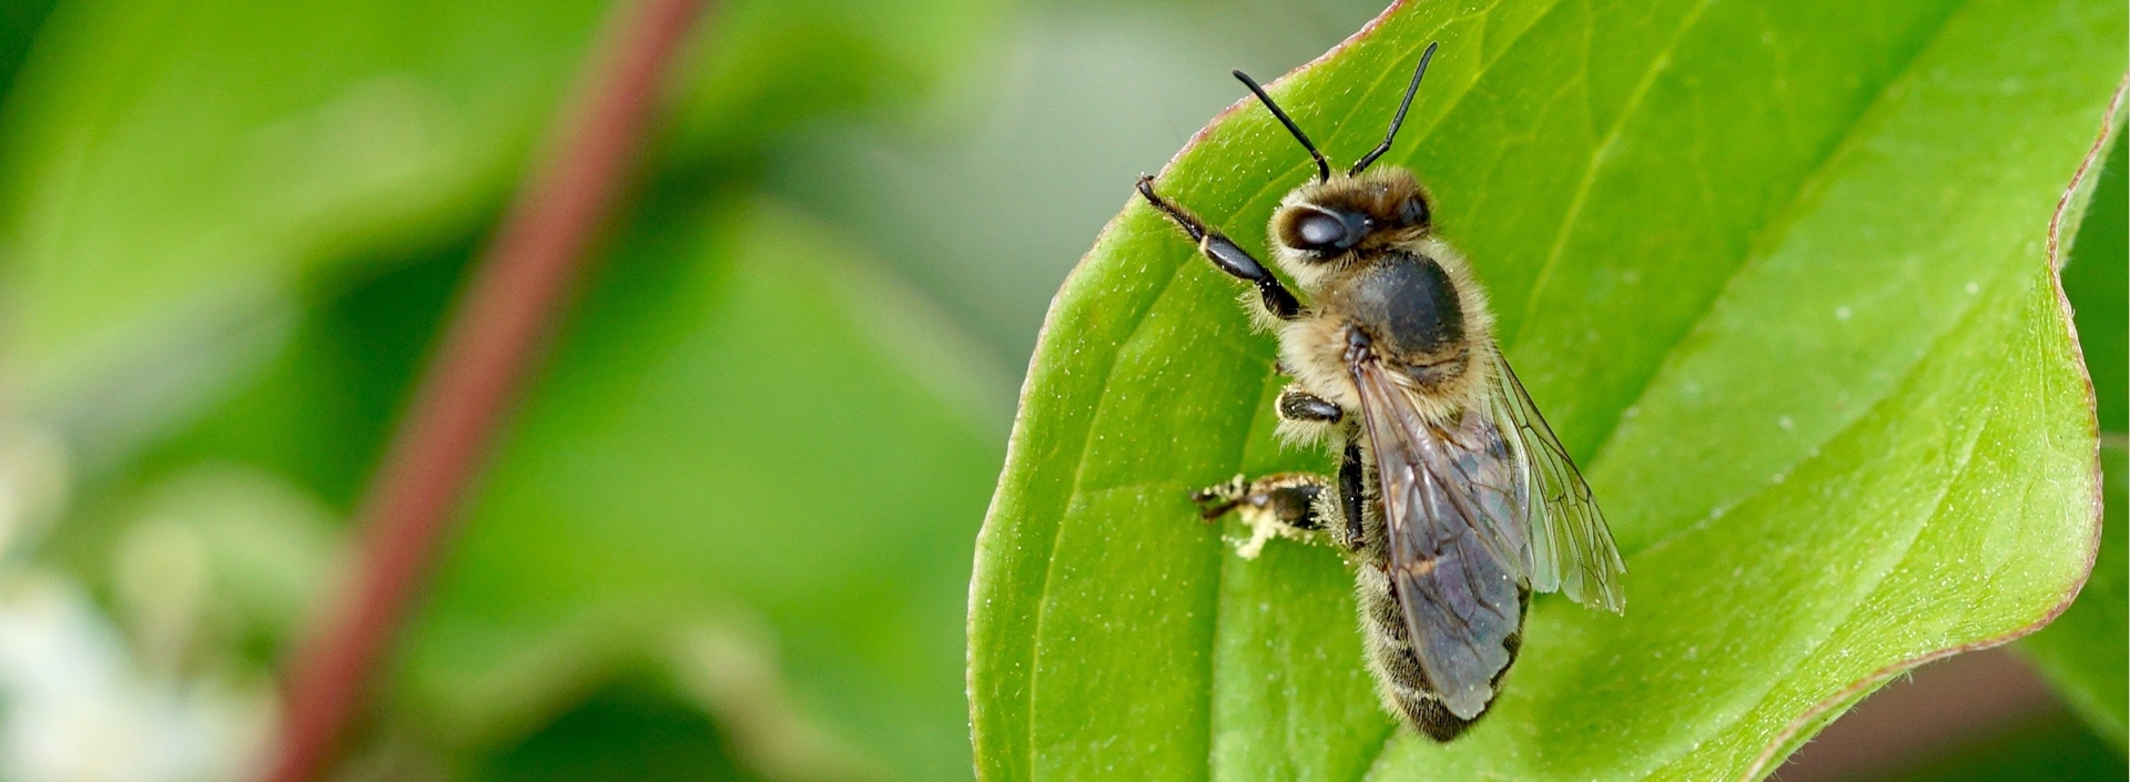
[[1297,264],[1340,262],[1357,249],[1427,237],[1429,228],[1427,190],[1404,168],[1297,188],[1272,213],[1280,256]]

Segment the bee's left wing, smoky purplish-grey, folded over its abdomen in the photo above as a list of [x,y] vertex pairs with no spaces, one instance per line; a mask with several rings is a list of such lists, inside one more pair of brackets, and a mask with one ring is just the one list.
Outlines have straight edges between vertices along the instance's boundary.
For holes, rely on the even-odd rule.
[[1525,471],[1487,416],[1433,426],[1391,371],[1350,371],[1376,456],[1391,594],[1433,695],[1472,720],[1523,624]]

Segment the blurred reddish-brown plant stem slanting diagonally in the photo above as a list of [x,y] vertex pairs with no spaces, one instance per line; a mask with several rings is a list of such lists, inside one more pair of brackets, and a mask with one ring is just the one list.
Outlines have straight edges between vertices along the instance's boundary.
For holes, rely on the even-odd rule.
[[362,707],[469,479],[624,196],[665,75],[703,0],[624,0],[547,156],[513,200],[356,514],[362,548],[332,622],[288,671],[275,782],[313,780]]

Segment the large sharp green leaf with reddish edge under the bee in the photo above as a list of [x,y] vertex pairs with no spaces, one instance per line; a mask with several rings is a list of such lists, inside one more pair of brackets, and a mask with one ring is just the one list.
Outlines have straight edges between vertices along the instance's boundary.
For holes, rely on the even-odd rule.
[[[2032,631],[2098,524],[2043,239],[2124,15],[1412,4],[1289,75],[1274,96],[1350,160],[1442,40],[1389,162],[1604,503],[1627,614],[1540,599],[1485,722],[1393,731],[1338,556],[1242,560],[1195,522],[1191,488],[1329,460],[1272,437],[1238,283],[1133,202],[1052,305],[978,539],[980,773],[1757,778],[1898,671]],[[1306,177],[1242,102],[1161,188],[1261,249]]]

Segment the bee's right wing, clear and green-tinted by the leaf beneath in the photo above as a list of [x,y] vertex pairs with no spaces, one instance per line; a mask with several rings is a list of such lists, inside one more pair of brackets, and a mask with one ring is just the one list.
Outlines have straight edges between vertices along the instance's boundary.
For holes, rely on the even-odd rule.
[[1604,511],[1591,499],[1589,484],[1568,458],[1561,441],[1553,437],[1546,418],[1538,416],[1531,394],[1508,369],[1508,358],[1495,354],[1495,418],[1510,433],[1510,450],[1525,467],[1529,505],[1529,573],[1531,588],[1540,592],[1566,592],[1568,599],[1621,612],[1627,607],[1623,580],[1627,565],[1619,560],[1612,545],[1612,531],[1604,524]]

